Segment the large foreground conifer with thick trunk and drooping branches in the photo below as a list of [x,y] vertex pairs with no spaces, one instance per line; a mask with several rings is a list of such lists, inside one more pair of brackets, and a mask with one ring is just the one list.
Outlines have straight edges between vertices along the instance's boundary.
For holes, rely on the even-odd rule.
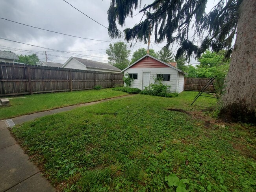
[[[226,49],[232,54],[227,76],[226,91],[222,96],[221,115],[226,120],[256,123],[256,1],[219,0],[209,13],[208,0],[155,0],[140,12],[145,20],[124,30],[126,41],[146,41],[154,30],[155,43],[167,40],[167,46],[180,42],[176,59],[181,55],[199,57],[207,49],[214,52]],[[126,17],[138,8],[138,0],[111,0],[108,10],[109,36],[119,37],[116,20],[124,26]],[[206,31],[201,46],[188,39],[194,27],[199,36]],[[177,32],[176,32],[177,31]],[[232,48],[232,40],[236,42]]]

